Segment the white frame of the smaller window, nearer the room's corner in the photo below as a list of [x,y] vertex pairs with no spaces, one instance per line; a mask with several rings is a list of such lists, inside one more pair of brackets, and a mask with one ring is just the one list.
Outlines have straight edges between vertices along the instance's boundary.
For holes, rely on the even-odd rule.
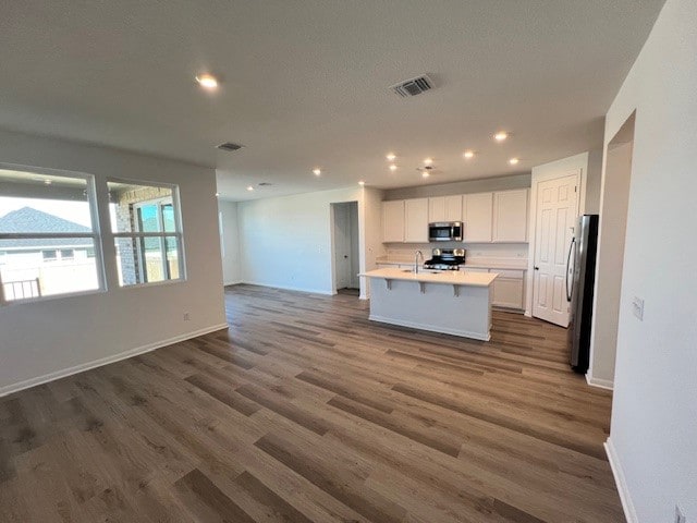
[[[134,240],[134,239],[145,239],[145,238],[159,238],[160,239],[160,244],[161,244],[161,248],[162,254],[163,254],[163,264],[167,264],[167,242],[166,240],[168,238],[175,238],[176,239],[176,259],[178,259],[178,267],[179,267],[179,278],[170,278],[170,279],[166,279],[166,280],[160,280],[160,281],[143,281],[145,280],[145,272],[144,272],[144,268],[143,268],[143,264],[138,264],[138,272],[139,272],[139,277],[140,277],[140,283],[133,283],[133,284],[121,284],[120,283],[120,288],[121,289],[130,289],[130,288],[137,288],[137,287],[145,287],[145,285],[160,285],[163,283],[176,283],[176,282],[182,282],[182,281],[186,281],[186,264],[184,263],[184,256],[185,256],[185,248],[184,248],[184,232],[182,230],[182,216],[181,216],[181,200],[179,197],[179,185],[176,184],[171,184],[171,183],[160,183],[160,182],[149,182],[149,181],[145,181],[145,180],[127,180],[127,179],[117,179],[117,178],[109,178],[107,179],[107,186],[109,186],[109,183],[123,183],[123,184],[131,184],[131,185],[137,185],[137,186],[142,186],[142,187],[161,187],[161,188],[169,188],[172,193],[170,196],[164,196],[164,197],[159,197],[159,198],[152,198],[152,199],[145,199],[143,202],[138,202],[137,204],[133,204],[133,208],[134,210],[137,209],[139,206],[144,206],[144,205],[152,205],[154,203],[159,203],[159,202],[167,202],[172,204],[172,210],[173,210],[173,216],[174,216],[174,231],[164,231],[164,226],[162,223],[162,232],[142,232],[142,231],[132,231],[132,232],[114,232],[112,228],[110,228],[110,235],[112,236],[112,243],[115,242],[117,239],[119,238],[125,238],[129,240]],[[160,205],[158,204],[158,208],[160,208]],[[161,215],[158,214],[158,220],[161,219]],[[135,222],[136,227],[137,227],[137,221]],[[137,242],[137,248],[136,248],[136,255],[138,256],[138,259],[144,259],[144,256],[142,255],[140,252],[142,247],[140,247],[140,241]],[[169,272],[169,268],[167,270],[167,272]]]

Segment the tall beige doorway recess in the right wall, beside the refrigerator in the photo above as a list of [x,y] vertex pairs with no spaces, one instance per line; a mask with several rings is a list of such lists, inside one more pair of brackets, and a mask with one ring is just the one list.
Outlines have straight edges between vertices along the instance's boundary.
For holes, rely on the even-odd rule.
[[608,143],[600,199],[588,381],[591,385],[607,388],[612,388],[614,382],[624,269],[624,242],[629,206],[632,155],[634,153],[634,120],[635,113],[624,122],[620,131]]

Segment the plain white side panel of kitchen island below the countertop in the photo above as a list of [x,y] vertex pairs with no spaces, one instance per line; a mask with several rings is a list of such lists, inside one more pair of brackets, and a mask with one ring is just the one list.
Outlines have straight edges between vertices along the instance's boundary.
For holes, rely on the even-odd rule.
[[382,278],[370,283],[370,319],[423,330],[488,341],[491,327],[491,287],[453,285]]

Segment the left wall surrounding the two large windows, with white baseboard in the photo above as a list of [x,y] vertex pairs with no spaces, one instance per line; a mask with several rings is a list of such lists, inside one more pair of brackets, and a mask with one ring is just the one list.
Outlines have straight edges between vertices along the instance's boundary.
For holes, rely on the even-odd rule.
[[121,289],[107,242],[108,292],[0,305],[0,393],[224,326],[212,169],[7,131],[0,162],[94,174],[105,203],[107,177],[179,184],[187,273],[182,282]]

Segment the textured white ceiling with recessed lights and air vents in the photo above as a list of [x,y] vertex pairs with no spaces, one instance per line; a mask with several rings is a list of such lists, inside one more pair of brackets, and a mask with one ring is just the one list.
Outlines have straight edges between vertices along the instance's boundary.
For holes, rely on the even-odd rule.
[[524,172],[601,145],[663,1],[0,0],[0,126],[216,167],[227,199]]

